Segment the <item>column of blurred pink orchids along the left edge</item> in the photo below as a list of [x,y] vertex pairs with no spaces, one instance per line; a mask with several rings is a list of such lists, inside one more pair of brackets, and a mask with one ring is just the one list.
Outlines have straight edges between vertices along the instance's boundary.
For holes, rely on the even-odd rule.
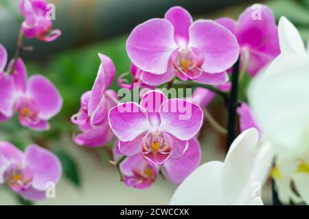
[[[21,0],[20,10],[25,21],[21,24],[17,55],[8,64],[8,53],[0,44],[0,123],[16,112],[22,126],[46,131],[48,120],[61,110],[62,97],[43,75],[27,77],[27,68],[19,53],[27,51],[22,45],[23,36],[51,42],[61,32],[52,30],[44,0]],[[56,185],[61,175],[59,159],[46,149],[32,144],[23,153],[13,144],[0,141],[0,185],[7,183],[23,198],[32,201],[46,198],[49,183]]]

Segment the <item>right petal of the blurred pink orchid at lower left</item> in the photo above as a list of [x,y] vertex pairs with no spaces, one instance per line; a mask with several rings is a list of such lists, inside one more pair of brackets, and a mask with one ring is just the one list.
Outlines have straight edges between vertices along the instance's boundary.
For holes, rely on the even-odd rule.
[[32,187],[45,191],[48,182],[58,183],[62,175],[62,167],[56,155],[35,144],[25,150],[25,169],[33,175]]

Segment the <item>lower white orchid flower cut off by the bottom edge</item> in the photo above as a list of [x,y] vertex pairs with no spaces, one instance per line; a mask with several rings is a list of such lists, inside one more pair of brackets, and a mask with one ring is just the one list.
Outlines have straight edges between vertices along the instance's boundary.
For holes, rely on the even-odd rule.
[[263,205],[262,185],[273,152],[258,145],[259,133],[247,129],[233,141],[225,162],[203,164],[179,185],[171,205]]

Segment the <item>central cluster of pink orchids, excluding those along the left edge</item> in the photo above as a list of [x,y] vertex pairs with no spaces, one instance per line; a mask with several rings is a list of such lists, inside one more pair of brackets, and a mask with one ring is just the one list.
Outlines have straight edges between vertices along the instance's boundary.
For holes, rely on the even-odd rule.
[[[159,173],[172,183],[181,183],[201,162],[196,135],[203,125],[202,109],[216,92],[196,88],[192,99],[168,99],[156,88],[172,87],[181,80],[229,92],[229,73],[238,60],[240,69],[254,77],[280,53],[273,12],[260,5],[260,18],[253,18],[254,13],[250,7],[238,21],[193,21],[187,10],[173,7],[164,18],[137,25],[126,42],[133,83],[125,75],[117,83],[120,88],[144,88],[139,103],[120,103],[115,91],[108,90],[115,66],[99,54],[95,83],[82,94],[80,110],[71,117],[82,131],[73,140],[85,146],[104,146],[115,140],[112,163],[128,186],[148,188]],[[184,116],[188,111],[190,116]],[[237,112],[241,131],[258,128],[246,103]]]

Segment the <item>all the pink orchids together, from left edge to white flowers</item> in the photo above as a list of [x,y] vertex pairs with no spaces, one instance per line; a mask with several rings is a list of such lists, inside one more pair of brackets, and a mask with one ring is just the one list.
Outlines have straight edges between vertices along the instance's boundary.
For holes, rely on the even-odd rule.
[[[60,36],[47,19],[44,0],[21,0],[20,9],[25,17],[21,36],[46,42]],[[216,92],[196,86],[192,99],[168,99],[156,88],[163,84],[172,87],[181,80],[229,92],[229,74],[238,60],[240,69],[254,77],[280,53],[273,13],[264,5],[260,10],[258,19],[252,16],[253,8],[248,8],[238,21],[193,21],[187,10],[173,7],[164,18],[135,27],[126,43],[133,83],[124,75],[117,82],[120,88],[138,86],[146,91],[139,103],[120,103],[116,92],[109,89],[115,79],[115,65],[99,53],[101,64],[93,87],[82,94],[80,110],[71,117],[81,131],[73,141],[91,147],[115,142],[112,163],[130,187],[148,188],[159,174],[172,183],[181,183],[201,162],[196,135],[203,125],[202,109]],[[19,46],[18,51],[23,51],[21,42]],[[24,127],[49,129],[48,120],[62,107],[58,90],[42,75],[27,78],[19,55],[9,64],[7,61],[7,52],[0,44],[0,122],[16,112]],[[246,103],[241,103],[237,112],[241,131],[258,128]],[[0,142],[0,184],[8,183],[24,198],[45,198],[46,183],[58,183],[61,172],[59,160],[46,149],[30,145],[23,153],[9,142]]]

